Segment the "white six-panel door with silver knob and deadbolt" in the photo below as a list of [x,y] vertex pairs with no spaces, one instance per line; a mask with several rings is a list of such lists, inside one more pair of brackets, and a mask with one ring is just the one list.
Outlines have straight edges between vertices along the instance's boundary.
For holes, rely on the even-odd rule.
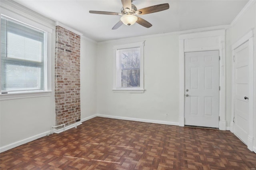
[[185,53],[185,125],[219,127],[219,51]]

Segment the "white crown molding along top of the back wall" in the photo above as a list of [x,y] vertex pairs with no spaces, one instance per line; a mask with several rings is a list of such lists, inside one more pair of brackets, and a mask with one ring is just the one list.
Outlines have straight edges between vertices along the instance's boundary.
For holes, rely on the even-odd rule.
[[122,39],[116,39],[116,40],[107,40],[103,42],[98,42],[98,44],[104,44],[104,43],[112,43],[117,41],[124,41],[124,40],[134,40],[134,38],[154,38],[154,37],[162,37],[162,36],[169,36],[174,34],[188,34],[188,33],[196,33],[196,32],[204,32],[204,31],[212,31],[212,30],[222,30],[222,29],[228,29],[230,28],[230,24],[228,25],[222,25],[222,26],[213,26],[213,27],[206,27],[206,28],[197,28],[193,30],[185,30],[185,31],[178,31],[178,32],[169,32],[169,33],[163,33],[163,34],[153,34],[148,36],[139,36],[139,37],[130,37],[130,38],[122,38]]

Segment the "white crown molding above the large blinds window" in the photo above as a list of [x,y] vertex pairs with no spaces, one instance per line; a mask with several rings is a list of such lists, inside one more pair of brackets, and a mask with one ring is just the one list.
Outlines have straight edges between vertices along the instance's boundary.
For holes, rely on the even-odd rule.
[[55,22],[53,20],[46,18],[45,16],[42,16],[41,14],[38,14],[12,0],[1,0],[0,7],[39,24],[48,26],[49,28],[54,28],[55,26]]

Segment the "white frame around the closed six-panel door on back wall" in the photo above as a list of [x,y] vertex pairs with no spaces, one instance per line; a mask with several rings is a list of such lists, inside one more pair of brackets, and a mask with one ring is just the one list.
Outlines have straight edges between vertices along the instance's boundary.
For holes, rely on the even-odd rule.
[[180,57],[180,112],[179,126],[185,121],[185,52],[219,50],[220,54],[220,91],[219,91],[219,129],[226,130],[226,65],[225,65],[225,29],[182,34],[179,37]]

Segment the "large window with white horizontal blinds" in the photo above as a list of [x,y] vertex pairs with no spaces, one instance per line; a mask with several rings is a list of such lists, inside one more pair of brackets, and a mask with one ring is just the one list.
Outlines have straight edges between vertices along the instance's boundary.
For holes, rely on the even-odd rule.
[[1,93],[44,90],[46,32],[1,17]]

